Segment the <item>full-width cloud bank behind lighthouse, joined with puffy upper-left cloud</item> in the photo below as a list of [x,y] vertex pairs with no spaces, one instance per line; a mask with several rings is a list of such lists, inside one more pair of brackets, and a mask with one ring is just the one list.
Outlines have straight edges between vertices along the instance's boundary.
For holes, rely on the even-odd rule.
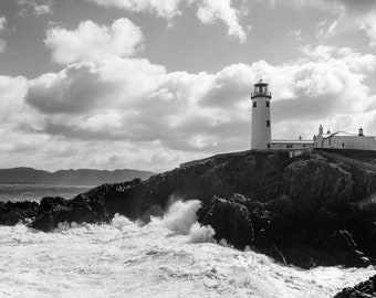
[[[365,84],[376,70],[375,55],[309,45],[300,60],[284,64],[258,61],[215,73],[168,72],[135,57],[143,41],[139,29],[137,38],[123,40],[129,33],[115,33],[115,24],[119,32],[136,28],[121,19],[109,26],[83,22],[75,30],[51,29],[46,44],[62,71],[31,81],[0,76],[0,137],[7,139],[0,151],[9,164],[33,166],[30,152],[38,152],[45,167],[56,167],[59,157],[59,167],[65,168],[160,170],[248,149],[249,94],[260,78],[273,93],[274,138],[312,137],[318,124],[349,131],[363,126],[376,134],[375,96]],[[65,38],[83,43],[67,49]]]

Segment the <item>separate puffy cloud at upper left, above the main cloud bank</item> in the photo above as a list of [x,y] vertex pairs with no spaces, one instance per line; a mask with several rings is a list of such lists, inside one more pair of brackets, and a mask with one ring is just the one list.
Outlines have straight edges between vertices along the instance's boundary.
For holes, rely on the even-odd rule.
[[46,33],[45,45],[60,64],[83,60],[102,60],[107,55],[132,56],[143,42],[143,33],[128,19],[115,20],[111,26],[92,21],[81,22],[74,31],[53,28]]

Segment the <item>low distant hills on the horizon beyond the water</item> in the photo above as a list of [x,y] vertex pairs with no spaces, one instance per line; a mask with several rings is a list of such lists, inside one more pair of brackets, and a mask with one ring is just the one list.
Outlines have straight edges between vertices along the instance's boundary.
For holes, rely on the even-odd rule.
[[154,172],[129,169],[114,171],[79,169],[48,172],[33,168],[13,168],[0,169],[0,183],[98,185],[124,182],[135,178],[146,180],[154,174]]

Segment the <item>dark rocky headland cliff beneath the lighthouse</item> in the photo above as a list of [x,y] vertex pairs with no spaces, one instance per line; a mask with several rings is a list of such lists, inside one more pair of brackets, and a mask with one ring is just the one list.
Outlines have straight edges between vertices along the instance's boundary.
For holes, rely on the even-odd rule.
[[367,266],[376,257],[376,168],[369,160],[323,151],[293,159],[286,151],[222,155],[70,201],[45,198],[30,225],[50,231],[61,222],[106,222],[115,213],[148,222],[171,198],[198,199],[199,221],[237,248],[304,268]]

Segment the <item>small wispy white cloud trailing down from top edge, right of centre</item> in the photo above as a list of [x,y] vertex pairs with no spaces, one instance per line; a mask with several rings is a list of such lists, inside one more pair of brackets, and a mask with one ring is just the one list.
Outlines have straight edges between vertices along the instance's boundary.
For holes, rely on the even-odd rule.
[[228,34],[244,42],[247,34],[239,24],[240,11],[232,7],[231,0],[201,0],[197,17],[205,24],[222,21],[228,26]]

